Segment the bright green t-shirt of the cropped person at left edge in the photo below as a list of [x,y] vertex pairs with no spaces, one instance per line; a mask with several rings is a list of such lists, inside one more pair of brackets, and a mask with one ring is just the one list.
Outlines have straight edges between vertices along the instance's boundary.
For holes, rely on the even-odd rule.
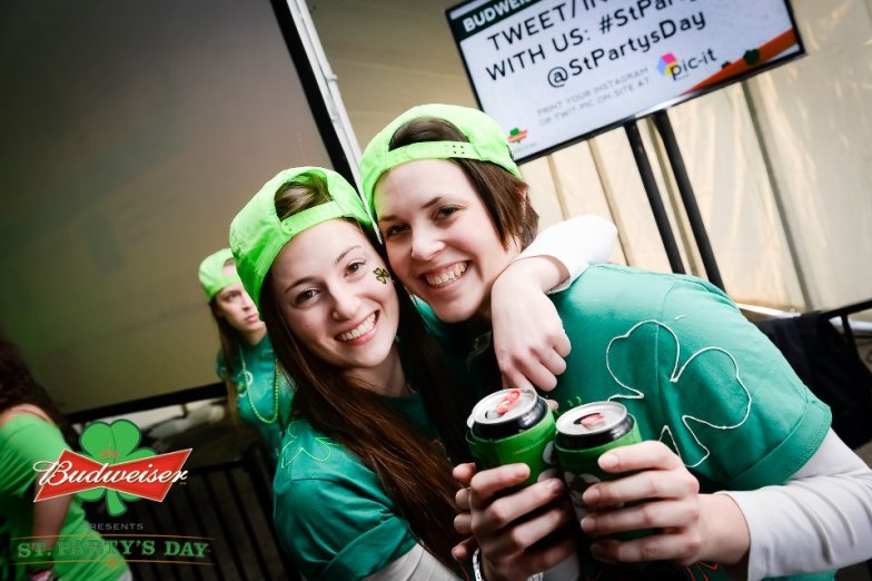
[[[32,534],[34,483],[39,477],[33,464],[53,462],[68,447],[57,426],[34,415],[17,415],[0,426],[0,579],[27,579],[26,568],[16,563],[28,560],[29,540],[24,538]],[[57,578],[110,581],[127,571],[118,551],[88,525],[81,502],[76,498],[60,535],[54,549]],[[83,557],[81,551],[87,554]],[[83,562],[83,559],[100,561]]]

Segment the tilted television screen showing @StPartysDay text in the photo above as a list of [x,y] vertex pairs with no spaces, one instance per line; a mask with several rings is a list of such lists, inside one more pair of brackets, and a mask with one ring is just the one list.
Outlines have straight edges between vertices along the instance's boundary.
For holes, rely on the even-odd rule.
[[446,16],[518,161],[804,53],[785,0],[474,0]]

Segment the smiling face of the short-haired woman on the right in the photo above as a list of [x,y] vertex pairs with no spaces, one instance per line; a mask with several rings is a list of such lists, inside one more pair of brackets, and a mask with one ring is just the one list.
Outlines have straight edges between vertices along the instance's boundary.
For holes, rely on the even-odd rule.
[[[488,313],[489,282],[521,252],[507,232],[535,229],[535,214],[525,215],[521,204],[509,204],[504,215],[512,224],[498,232],[470,178],[445,159],[404,164],[378,187],[378,227],[390,266],[408,289],[446,323]],[[392,200],[387,214],[385,199]],[[527,243],[531,239],[528,235]]]

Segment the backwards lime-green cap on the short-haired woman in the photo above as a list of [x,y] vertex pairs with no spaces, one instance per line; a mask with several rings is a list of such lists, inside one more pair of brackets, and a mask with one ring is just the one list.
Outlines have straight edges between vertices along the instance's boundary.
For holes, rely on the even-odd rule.
[[[388,150],[394,134],[405,124],[422,117],[445,119],[457,127],[468,139],[466,141],[424,141],[409,144]],[[508,137],[499,125],[478,109],[456,105],[420,105],[404,112],[382,129],[360,158],[360,177],[364,183],[364,198],[375,215],[373,198],[378,178],[387,170],[415,159],[449,159],[459,157],[490,161],[521,178],[521,170],[508,147]]]

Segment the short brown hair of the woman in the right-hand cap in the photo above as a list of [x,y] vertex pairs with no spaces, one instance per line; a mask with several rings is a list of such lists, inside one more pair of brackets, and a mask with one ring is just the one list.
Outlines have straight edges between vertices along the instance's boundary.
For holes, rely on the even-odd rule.
[[[445,119],[420,117],[399,127],[390,137],[388,149],[398,149],[423,141],[469,142],[469,139],[454,124]],[[529,246],[536,237],[539,215],[533,209],[529,196],[526,195],[527,184],[489,161],[462,158],[448,160],[457,164],[473,183],[490,219],[494,220],[503,246],[507,248],[515,240],[521,248]]]

